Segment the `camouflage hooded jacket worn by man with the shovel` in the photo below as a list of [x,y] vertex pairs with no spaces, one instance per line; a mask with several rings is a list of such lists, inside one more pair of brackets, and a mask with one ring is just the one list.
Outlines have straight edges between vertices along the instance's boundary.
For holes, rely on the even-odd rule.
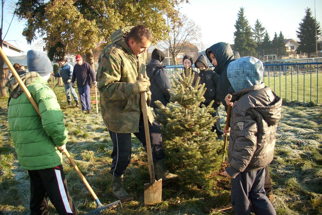
[[[146,75],[147,53],[136,56],[128,47],[125,38],[134,26],[118,29],[111,36],[109,45],[99,55],[97,81],[100,106],[104,123],[116,133],[139,131],[141,110],[140,94],[133,95],[133,83],[138,74]],[[147,110],[150,123],[154,120]]]

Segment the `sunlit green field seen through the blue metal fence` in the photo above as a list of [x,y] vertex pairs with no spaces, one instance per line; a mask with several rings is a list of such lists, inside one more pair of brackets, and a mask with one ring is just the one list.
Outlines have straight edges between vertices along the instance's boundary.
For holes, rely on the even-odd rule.
[[[287,76],[264,77],[266,86],[269,86],[285,101],[306,101],[322,103],[322,73],[293,74]],[[305,80],[305,81],[304,81]],[[317,83],[318,80],[318,83]],[[285,84],[286,83],[286,84]],[[285,87],[286,86],[286,87]],[[304,97],[303,97],[304,95]],[[318,96],[317,96],[318,95]]]

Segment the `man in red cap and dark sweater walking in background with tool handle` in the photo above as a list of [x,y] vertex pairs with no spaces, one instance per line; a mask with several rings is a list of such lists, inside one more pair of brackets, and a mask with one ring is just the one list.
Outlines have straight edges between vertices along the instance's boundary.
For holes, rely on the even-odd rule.
[[90,113],[90,84],[93,82],[97,87],[95,72],[92,67],[83,61],[80,55],[76,55],[77,64],[74,66],[73,75],[71,77],[71,85],[74,87],[77,79],[77,89],[81,99],[81,109]]

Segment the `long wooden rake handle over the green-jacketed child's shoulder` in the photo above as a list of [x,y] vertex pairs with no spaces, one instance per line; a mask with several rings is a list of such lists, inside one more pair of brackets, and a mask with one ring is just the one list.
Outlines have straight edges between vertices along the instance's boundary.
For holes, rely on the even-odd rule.
[[[26,85],[24,85],[24,82],[19,77],[18,73],[16,72],[16,70],[12,66],[11,62],[9,61],[8,57],[5,55],[5,53],[3,52],[1,47],[0,47],[0,54],[1,54],[2,58],[5,60],[5,63],[8,65],[8,67],[11,70],[12,74],[14,75],[16,80],[18,81],[20,87],[24,90],[24,93],[26,94],[26,96],[28,97],[29,101],[31,102],[31,104],[33,105],[33,107],[35,108],[35,110],[37,111],[38,115],[41,118],[37,103],[35,102],[35,100],[31,96],[31,94],[30,94],[29,90],[27,89]],[[78,173],[78,175],[82,179],[82,181],[84,182],[84,184],[87,187],[87,189],[90,191],[90,194],[93,196],[94,200],[96,200],[97,199],[96,194],[94,193],[93,189],[90,187],[89,183],[87,182],[87,180],[85,179],[85,177],[83,176],[81,171],[78,169],[77,165],[75,164],[74,160],[71,158],[71,156],[68,153],[67,149],[65,149],[64,153],[65,153],[66,157],[69,159],[69,161],[71,162],[71,165],[74,167],[74,169],[76,170],[76,172]]]

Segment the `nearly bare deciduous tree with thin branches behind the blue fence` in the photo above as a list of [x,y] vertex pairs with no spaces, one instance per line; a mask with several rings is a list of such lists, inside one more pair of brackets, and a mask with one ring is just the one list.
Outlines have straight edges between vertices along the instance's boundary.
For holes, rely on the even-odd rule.
[[181,22],[170,21],[168,38],[158,44],[163,49],[168,49],[172,55],[174,65],[177,65],[176,56],[180,52],[188,51],[191,45],[197,45],[201,39],[201,29],[186,15],[181,15]]

